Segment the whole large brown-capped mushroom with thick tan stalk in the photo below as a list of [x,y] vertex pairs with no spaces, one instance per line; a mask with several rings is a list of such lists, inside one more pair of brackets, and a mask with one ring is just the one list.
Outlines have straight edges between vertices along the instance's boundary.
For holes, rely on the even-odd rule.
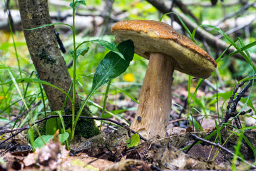
[[130,39],[135,53],[149,59],[138,111],[130,128],[144,138],[166,135],[172,105],[173,71],[208,78],[217,63],[190,38],[159,21],[120,21],[111,28],[116,41]]

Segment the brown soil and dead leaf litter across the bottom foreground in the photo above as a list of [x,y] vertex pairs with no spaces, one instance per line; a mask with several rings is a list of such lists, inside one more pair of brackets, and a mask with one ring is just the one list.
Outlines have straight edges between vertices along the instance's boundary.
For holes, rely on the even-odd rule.
[[[178,130],[182,129],[178,128]],[[198,134],[198,136],[203,135]],[[250,142],[256,142],[255,131],[247,130],[244,136]],[[90,166],[93,170],[231,169],[232,155],[225,150],[218,151],[217,147],[206,143],[195,145],[188,154],[185,154],[185,150],[181,149],[191,145],[194,141],[189,133],[171,135],[162,139],[155,138],[155,140],[146,142],[141,141],[140,145],[136,147],[127,147],[125,143],[127,139],[128,131],[125,128],[118,128],[113,133],[101,133],[86,140],[77,138],[77,142],[71,143],[71,151],[65,150],[65,147],[56,140],[33,153],[29,153],[24,148],[19,149],[18,146],[16,150],[5,150],[2,156],[6,160],[6,167],[9,170],[21,170],[21,168],[24,170],[83,168],[84,170],[85,165],[86,168]],[[226,140],[224,147],[233,151],[234,145],[237,144],[237,135],[231,135],[230,130],[223,130],[222,139]],[[19,142],[16,141],[17,143]],[[252,145],[255,147],[255,144]],[[17,152],[18,150],[19,152]],[[240,152],[245,160],[254,162],[254,154],[247,142],[242,141]],[[32,161],[31,158],[34,160]],[[59,162],[60,160],[62,162]],[[240,161],[237,161],[237,167],[242,170],[248,169],[248,165],[240,163]]]

